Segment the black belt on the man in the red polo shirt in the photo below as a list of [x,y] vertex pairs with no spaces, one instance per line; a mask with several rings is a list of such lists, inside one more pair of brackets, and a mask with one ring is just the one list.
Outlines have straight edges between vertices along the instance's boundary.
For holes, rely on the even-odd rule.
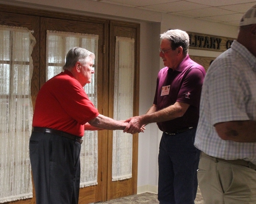
[[50,133],[54,135],[60,135],[65,138],[69,138],[71,140],[77,141],[78,143],[82,144],[82,138],[76,135],[71,135],[67,132],[63,132],[57,129],[50,129],[44,127],[33,127],[32,132],[41,132],[41,133]]

